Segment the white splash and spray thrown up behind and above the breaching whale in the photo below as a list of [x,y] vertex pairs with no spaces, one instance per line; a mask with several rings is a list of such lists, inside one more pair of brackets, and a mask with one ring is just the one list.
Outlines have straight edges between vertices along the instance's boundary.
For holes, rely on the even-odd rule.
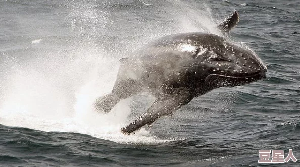
[[[179,1],[173,3],[180,8],[168,11],[176,13],[174,20],[180,24],[168,33],[207,30],[218,33],[209,8],[204,7],[205,10],[199,13]],[[82,35],[89,30],[91,34],[103,31],[108,23],[106,14],[98,13],[95,5],[85,4],[82,8],[80,5],[74,5],[73,13],[67,17],[71,19],[71,32]],[[101,26],[97,26],[99,24]],[[154,25],[152,29],[163,32],[165,27]],[[146,30],[136,33],[148,34]],[[120,128],[131,121],[127,119],[131,112],[128,100],[122,100],[108,114],[95,112],[92,104],[97,97],[111,91],[119,61],[94,40],[81,37],[81,41],[70,43],[45,37],[29,41],[21,53],[16,50],[4,55],[1,64],[5,66],[0,77],[6,82],[0,85],[0,124],[77,132],[120,143],[166,142],[145,129],[130,136],[120,132]],[[20,54],[27,59],[21,58]]]

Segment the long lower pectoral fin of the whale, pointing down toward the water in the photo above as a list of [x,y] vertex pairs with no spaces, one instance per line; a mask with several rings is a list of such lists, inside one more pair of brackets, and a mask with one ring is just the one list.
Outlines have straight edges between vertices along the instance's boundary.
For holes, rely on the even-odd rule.
[[158,98],[152,106],[142,114],[138,119],[134,120],[127,127],[121,129],[124,134],[130,134],[144,125],[150,125],[155,122],[161,116],[167,116],[172,114],[175,110],[179,109],[182,105],[185,105],[191,101],[192,97],[186,92],[180,92],[180,94],[163,95]]

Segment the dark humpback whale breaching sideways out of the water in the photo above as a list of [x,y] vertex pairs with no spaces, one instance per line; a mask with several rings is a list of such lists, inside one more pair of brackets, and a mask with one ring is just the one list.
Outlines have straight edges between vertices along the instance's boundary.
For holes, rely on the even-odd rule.
[[[239,22],[235,11],[217,28],[229,34]],[[111,93],[99,97],[94,107],[108,113],[122,99],[140,92],[156,98],[141,116],[126,127],[132,134],[162,116],[172,115],[193,98],[220,87],[234,87],[266,78],[267,67],[250,49],[224,37],[203,32],[164,36],[120,59]]]

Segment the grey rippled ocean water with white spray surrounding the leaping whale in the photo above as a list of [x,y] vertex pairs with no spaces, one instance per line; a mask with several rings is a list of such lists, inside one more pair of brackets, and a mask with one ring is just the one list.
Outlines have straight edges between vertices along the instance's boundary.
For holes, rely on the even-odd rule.
[[[300,2],[0,1],[0,166],[299,166],[260,164],[259,150],[300,160]],[[152,128],[120,128],[155,100],[142,93],[109,114],[119,59],[165,35],[218,34],[255,51],[267,78],[193,99]],[[221,34],[218,34],[221,35]]]

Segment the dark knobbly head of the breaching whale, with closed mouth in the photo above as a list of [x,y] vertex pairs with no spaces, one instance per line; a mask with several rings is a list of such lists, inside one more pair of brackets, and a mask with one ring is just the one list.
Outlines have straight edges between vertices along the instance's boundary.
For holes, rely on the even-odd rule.
[[210,35],[208,42],[199,45],[197,59],[205,84],[210,88],[239,86],[266,78],[267,68],[251,50]]

